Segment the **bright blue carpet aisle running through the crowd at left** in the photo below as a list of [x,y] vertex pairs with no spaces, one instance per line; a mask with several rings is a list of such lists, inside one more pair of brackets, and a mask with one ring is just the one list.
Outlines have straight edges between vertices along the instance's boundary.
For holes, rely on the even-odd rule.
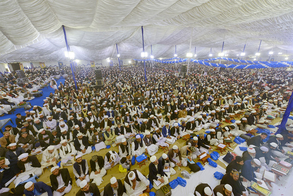
[[[61,77],[59,80],[57,80],[57,84],[59,84],[59,82],[62,82],[62,84],[64,84],[64,81],[65,81],[64,78]],[[35,99],[29,101],[30,104],[32,105],[32,107],[33,107],[34,105],[37,105],[37,106],[41,106],[41,107],[42,107],[42,104],[44,103],[43,99],[46,99],[46,97],[48,97],[48,96],[50,95],[50,92],[53,92],[53,93],[54,93],[54,90],[53,90],[50,86],[48,86],[48,89],[47,89],[47,87],[44,87],[44,88],[39,89],[39,90],[42,90],[42,91],[43,91],[43,96],[42,96],[42,97],[35,97]],[[32,109],[33,109],[33,108],[31,108],[30,110],[32,110]],[[2,119],[8,119],[8,118],[11,118],[11,120],[12,120],[13,123],[14,123],[14,125],[13,125],[10,121],[9,121],[6,125],[11,125],[11,126],[13,126],[13,127],[16,127],[16,125],[15,125],[16,114],[21,113],[21,115],[24,116],[24,115],[25,115],[24,111],[25,111],[24,108],[19,108],[19,109],[16,109],[16,110],[14,111],[14,114],[4,114],[4,116],[1,116],[0,119],[2,120]],[[6,126],[6,125],[5,125],[5,126]],[[5,128],[3,127],[3,128],[2,128],[2,131],[3,131],[4,129],[5,129]],[[0,137],[2,137],[2,136],[3,136],[3,134],[0,133]]]

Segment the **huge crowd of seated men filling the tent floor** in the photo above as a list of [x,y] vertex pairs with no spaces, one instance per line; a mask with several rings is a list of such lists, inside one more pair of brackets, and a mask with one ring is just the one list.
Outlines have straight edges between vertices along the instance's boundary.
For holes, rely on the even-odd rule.
[[[286,107],[293,88],[292,72],[284,68],[219,72],[214,67],[192,64],[189,75],[181,77],[178,67],[156,63],[147,67],[146,76],[140,65],[124,66],[121,71],[115,66],[102,67],[104,86],[96,89],[93,69],[75,68],[76,88],[68,67],[28,70],[30,81],[23,86],[18,85],[16,74],[2,75],[3,113],[33,99],[30,92],[46,83],[54,90],[42,105],[16,114],[16,127],[5,127],[0,138],[2,192],[8,193],[6,183],[15,177],[13,194],[61,196],[76,183],[80,187],[76,195],[100,195],[98,186],[115,165],[119,165],[117,172],[127,173],[124,183],[111,178],[103,195],[140,195],[150,192],[150,183],[159,189],[176,175],[174,167],[199,171],[190,162],[201,153],[209,153],[223,139],[246,134],[259,121]],[[57,84],[55,79],[61,75],[65,82]],[[239,111],[245,111],[240,120],[218,125]],[[209,133],[205,136],[202,130]],[[191,136],[185,143],[182,138],[187,134]],[[212,189],[208,182],[202,183],[192,194],[248,196],[246,188],[253,182],[261,183],[258,176],[292,150],[292,121],[288,120],[281,134],[264,143],[266,137],[263,133],[247,141],[249,148],[227,166],[220,185]],[[176,141],[185,145],[180,148]],[[109,150],[104,157],[99,155],[101,149],[111,146],[118,149],[112,148],[116,150]],[[156,156],[159,147],[169,151]],[[83,158],[91,153],[90,160]],[[143,153],[151,161],[147,176],[131,169],[133,157]],[[39,154],[41,161],[36,157]],[[68,165],[72,165],[73,178],[63,168]],[[51,186],[32,181],[17,186],[33,175],[42,175],[46,167],[52,173]]]

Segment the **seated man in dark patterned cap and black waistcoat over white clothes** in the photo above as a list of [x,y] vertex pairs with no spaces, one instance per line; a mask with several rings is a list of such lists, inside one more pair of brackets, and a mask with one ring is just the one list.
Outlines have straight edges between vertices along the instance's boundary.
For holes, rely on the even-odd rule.
[[106,170],[104,168],[104,159],[102,156],[94,155],[90,160],[91,165],[91,174],[90,179],[93,179],[93,182],[99,186],[103,179],[102,177],[106,175]]

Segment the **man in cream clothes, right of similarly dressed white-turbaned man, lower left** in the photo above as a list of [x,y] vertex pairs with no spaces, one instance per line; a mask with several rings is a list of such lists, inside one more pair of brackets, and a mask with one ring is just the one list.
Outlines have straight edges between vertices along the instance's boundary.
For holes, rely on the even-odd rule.
[[61,157],[61,164],[64,164],[62,163],[63,160],[67,160],[67,162],[69,162],[71,160],[71,163],[74,164],[74,156],[76,155],[76,150],[74,148],[74,145],[73,143],[67,143],[67,140],[64,139],[64,140],[61,140],[61,147],[60,147],[60,150],[59,150],[59,154],[60,154],[60,157]]

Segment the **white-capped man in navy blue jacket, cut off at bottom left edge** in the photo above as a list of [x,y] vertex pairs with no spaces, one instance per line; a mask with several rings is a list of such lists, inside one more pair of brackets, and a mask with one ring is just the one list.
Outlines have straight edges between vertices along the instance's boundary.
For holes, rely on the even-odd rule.
[[53,195],[51,187],[43,182],[33,183],[29,181],[25,183],[24,188],[23,193],[25,195]]

